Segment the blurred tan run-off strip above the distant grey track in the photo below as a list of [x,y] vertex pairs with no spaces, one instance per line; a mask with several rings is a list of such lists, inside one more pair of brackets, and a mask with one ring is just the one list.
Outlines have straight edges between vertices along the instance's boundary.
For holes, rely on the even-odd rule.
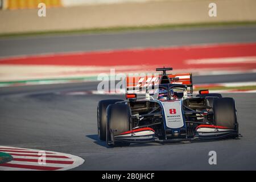
[[[46,18],[37,15],[46,4]],[[209,4],[217,16],[208,15]],[[0,34],[85,28],[255,21],[254,0],[1,0]],[[10,11],[11,10],[11,11]]]

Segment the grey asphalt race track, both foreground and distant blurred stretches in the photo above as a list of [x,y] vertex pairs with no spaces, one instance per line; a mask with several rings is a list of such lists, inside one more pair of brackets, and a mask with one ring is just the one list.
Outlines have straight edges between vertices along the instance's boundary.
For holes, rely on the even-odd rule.
[[[0,56],[135,46],[255,42],[255,29],[256,27],[205,28],[202,30],[154,31],[144,32],[144,34],[135,32],[117,35],[2,39],[0,40]],[[138,37],[143,41],[139,42],[138,38],[129,39],[130,34],[141,35]],[[152,36],[152,39],[147,42],[148,34],[154,34],[155,40]],[[164,38],[166,34],[177,36],[174,41],[168,42]],[[85,39],[85,37],[90,38]],[[38,39],[42,42],[39,43]],[[122,42],[123,39],[127,41]],[[91,40],[91,42],[88,43],[86,40]],[[77,44],[75,44],[76,41]],[[49,44],[51,42],[55,43]],[[65,44],[68,42],[73,42],[74,45],[68,47]],[[5,48],[3,48],[4,44]],[[81,45],[84,47],[80,47]],[[255,73],[200,76],[194,79],[197,84],[255,80]],[[98,140],[97,137],[97,102],[124,96],[64,94],[71,91],[96,89],[96,82],[0,88],[0,145],[77,155],[85,160],[84,164],[75,168],[77,170],[256,169],[256,93],[224,94],[225,97],[233,97],[236,100],[240,133],[243,136],[240,139],[164,145],[132,144],[129,147],[108,148],[105,142]],[[208,163],[208,153],[212,150],[217,152],[217,165]]]

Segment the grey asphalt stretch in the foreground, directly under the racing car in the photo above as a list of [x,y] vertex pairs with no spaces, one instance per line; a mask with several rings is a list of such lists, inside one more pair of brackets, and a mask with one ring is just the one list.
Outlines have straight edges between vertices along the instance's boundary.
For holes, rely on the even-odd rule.
[[[1,145],[77,155],[85,160],[75,168],[81,170],[256,169],[255,93],[225,94],[237,102],[241,139],[107,148],[97,137],[97,102],[123,96],[60,94],[73,89],[81,88],[52,86],[0,96]],[[216,166],[208,164],[211,150],[217,152]]]

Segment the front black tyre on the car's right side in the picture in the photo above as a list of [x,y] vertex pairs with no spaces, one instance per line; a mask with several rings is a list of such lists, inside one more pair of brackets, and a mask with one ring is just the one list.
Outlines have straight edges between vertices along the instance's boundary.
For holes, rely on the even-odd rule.
[[236,103],[233,98],[223,97],[213,102],[214,125],[238,131]]

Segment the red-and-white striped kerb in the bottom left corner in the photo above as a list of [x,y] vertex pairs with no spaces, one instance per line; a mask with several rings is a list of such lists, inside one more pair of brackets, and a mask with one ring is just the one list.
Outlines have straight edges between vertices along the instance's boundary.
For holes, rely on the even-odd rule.
[[[84,163],[79,156],[53,151],[0,146],[0,152],[13,156],[11,162],[0,164],[0,170],[7,171],[64,171]],[[45,160],[40,160],[43,156]]]

